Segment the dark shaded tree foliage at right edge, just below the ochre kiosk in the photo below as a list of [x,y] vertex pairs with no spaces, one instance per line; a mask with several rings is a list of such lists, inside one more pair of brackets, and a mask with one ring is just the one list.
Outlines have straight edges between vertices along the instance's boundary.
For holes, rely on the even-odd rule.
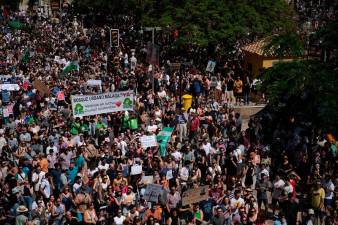
[[[261,90],[274,107],[298,120],[308,118],[326,129],[338,125],[338,76],[336,71],[319,61],[278,63],[263,75]],[[282,103],[282,104],[281,104]]]

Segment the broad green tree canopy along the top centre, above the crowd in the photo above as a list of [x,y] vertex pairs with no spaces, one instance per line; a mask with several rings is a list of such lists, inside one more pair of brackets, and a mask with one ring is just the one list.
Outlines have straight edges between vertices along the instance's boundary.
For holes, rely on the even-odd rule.
[[[78,9],[136,16],[142,26],[180,31],[179,44],[232,45],[249,34],[295,29],[284,0],[76,0]],[[88,11],[88,10],[87,10]]]

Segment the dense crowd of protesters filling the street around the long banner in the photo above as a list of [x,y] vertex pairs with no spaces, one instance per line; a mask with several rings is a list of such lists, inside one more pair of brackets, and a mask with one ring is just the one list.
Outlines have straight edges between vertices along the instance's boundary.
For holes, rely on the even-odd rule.
[[[110,24],[111,49],[107,26],[82,22],[67,7],[1,12],[0,224],[338,223],[335,137],[292,120],[273,129],[269,113],[244,128],[235,109],[255,90],[239,45],[174,51],[160,35],[149,65],[131,18]],[[72,96],[121,91],[133,109],[74,115]]]

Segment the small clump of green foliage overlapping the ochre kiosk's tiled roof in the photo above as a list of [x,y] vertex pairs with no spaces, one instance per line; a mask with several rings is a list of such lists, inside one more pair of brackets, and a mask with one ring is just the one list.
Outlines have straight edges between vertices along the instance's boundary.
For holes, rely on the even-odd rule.
[[278,57],[301,57],[304,55],[304,43],[294,33],[275,35],[264,46],[264,54]]

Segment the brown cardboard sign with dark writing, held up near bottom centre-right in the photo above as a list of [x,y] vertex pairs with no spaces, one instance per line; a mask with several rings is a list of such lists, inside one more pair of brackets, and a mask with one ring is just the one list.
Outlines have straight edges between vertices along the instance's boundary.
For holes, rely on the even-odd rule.
[[209,187],[203,186],[187,190],[182,194],[182,205],[190,205],[209,198]]

